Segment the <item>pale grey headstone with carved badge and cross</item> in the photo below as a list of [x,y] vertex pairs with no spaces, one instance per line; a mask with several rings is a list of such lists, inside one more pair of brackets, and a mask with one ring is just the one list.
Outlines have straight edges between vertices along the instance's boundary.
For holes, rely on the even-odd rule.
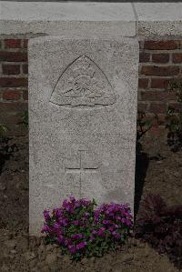
[[73,194],[133,208],[138,43],[29,42],[30,233]]

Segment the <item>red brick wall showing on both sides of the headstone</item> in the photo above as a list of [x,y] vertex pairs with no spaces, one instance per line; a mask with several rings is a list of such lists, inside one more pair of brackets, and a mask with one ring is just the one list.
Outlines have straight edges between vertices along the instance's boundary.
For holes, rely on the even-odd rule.
[[[9,135],[25,135],[18,125],[19,114],[27,110],[27,40],[0,41],[0,123],[9,127]],[[178,104],[166,90],[167,80],[182,76],[182,40],[140,42],[138,109],[148,116],[157,113],[161,120],[168,105]]]

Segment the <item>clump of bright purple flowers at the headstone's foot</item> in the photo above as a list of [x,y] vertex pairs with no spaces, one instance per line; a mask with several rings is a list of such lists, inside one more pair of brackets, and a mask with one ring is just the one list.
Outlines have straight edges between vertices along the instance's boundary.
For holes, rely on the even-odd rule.
[[101,257],[126,242],[132,227],[128,204],[103,204],[70,196],[52,214],[44,211],[46,243],[58,244],[72,259]]

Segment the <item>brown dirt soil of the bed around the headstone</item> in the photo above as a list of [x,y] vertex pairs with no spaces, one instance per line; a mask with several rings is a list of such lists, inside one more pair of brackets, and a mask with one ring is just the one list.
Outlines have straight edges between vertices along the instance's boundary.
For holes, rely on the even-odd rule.
[[[116,253],[75,263],[59,247],[46,246],[43,237],[28,237],[28,138],[16,137],[10,144],[16,146],[15,153],[0,167],[0,271],[178,271],[166,255],[135,238]],[[160,194],[167,204],[182,203],[182,151],[170,151],[163,130],[148,133],[142,146],[136,158],[136,217],[148,193]]]

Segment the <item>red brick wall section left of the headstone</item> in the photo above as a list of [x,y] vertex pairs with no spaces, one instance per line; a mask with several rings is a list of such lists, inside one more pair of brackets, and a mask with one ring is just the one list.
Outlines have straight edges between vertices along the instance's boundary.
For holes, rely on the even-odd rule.
[[8,135],[22,136],[27,133],[18,124],[27,110],[27,40],[1,40],[0,64],[0,123],[8,127]]

